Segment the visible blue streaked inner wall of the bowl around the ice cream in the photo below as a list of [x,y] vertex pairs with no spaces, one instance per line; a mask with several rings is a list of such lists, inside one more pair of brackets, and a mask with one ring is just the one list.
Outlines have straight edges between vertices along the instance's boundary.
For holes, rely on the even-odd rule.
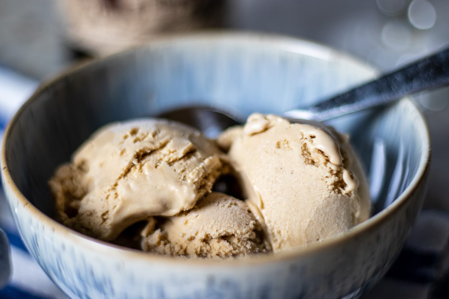
[[[167,39],[57,78],[12,121],[5,159],[18,190],[48,216],[47,182],[99,126],[191,104],[242,117],[307,107],[374,76],[374,70],[313,43],[257,35]],[[423,118],[409,101],[330,121],[350,134],[369,176],[374,213],[400,195],[426,162]]]

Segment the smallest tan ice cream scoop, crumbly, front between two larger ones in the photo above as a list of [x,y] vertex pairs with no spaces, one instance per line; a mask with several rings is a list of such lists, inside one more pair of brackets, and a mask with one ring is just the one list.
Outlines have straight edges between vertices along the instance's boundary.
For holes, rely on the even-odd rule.
[[171,256],[229,257],[267,251],[262,226],[247,204],[218,192],[200,199],[189,211],[150,221],[142,237],[144,251]]

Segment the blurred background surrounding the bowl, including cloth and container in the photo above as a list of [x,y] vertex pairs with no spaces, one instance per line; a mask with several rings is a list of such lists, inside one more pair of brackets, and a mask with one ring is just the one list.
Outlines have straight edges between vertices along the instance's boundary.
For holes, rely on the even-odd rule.
[[[448,15],[448,0],[0,0],[0,129],[40,82],[160,35],[211,28],[286,34],[388,71],[448,47]],[[432,141],[425,209],[392,270],[364,298],[449,298],[449,89],[413,100]],[[13,278],[0,298],[65,298],[27,255],[2,199],[0,227],[14,245]]]

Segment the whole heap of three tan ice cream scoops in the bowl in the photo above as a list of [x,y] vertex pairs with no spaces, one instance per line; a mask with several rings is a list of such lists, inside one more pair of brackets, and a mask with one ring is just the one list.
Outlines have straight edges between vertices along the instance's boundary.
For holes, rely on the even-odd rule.
[[[213,191],[230,173],[243,190],[238,198]],[[111,123],[49,186],[64,225],[113,243],[133,231],[143,251],[191,258],[307,246],[370,213],[347,138],[258,113],[216,141],[175,121]]]

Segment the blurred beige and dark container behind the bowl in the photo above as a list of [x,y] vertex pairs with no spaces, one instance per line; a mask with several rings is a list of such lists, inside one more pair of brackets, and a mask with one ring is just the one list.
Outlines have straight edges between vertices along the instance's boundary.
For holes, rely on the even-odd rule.
[[56,1],[68,39],[94,56],[170,33],[222,25],[224,0]]

